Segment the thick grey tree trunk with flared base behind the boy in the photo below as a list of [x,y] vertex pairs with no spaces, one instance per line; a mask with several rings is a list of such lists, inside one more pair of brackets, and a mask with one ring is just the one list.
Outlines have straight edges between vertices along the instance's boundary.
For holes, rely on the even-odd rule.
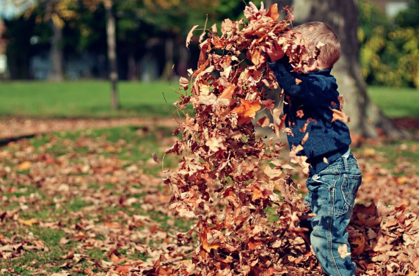
[[345,100],[344,111],[350,117],[352,133],[367,138],[385,134],[406,138],[409,134],[398,129],[367,95],[367,85],[361,74],[359,42],[356,31],[358,6],[356,0],[294,0],[296,23],[321,21],[336,32],[342,44],[340,60],[332,74],[336,76],[339,91]]

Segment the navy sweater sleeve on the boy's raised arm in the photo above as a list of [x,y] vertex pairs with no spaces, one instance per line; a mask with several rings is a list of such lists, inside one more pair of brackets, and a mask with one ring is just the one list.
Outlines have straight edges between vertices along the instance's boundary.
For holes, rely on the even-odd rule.
[[[324,76],[292,72],[293,68],[289,64],[287,56],[277,62],[268,63],[268,65],[274,71],[279,86],[283,88],[286,95],[307,104],[330,104],[329,98],[332,99],[333,93],[331,93],[330,83],[324,81]],[[301,82],[297,84],[296,79]]]

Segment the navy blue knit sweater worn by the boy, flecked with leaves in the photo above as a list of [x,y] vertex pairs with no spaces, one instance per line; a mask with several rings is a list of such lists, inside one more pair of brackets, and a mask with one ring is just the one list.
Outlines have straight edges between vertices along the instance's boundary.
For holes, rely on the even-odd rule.
[[[287,135],[289,147],[301,144],[308,132],[309,138],[298,155],[308,157],[311,175],[319,173],[347,152],[351,142],[348,126],[342,121],[331,122],[331,108],[340,109],[336,79],[330,74],[331,69],[304,74],[292,72],[287,56],[268,65],[288,96],[285,97],[283,112],[286,114],[285,126],[293,134]],[[299,84],[296,78],[301,80]],[[308,119],[312,120],[304,132]]]

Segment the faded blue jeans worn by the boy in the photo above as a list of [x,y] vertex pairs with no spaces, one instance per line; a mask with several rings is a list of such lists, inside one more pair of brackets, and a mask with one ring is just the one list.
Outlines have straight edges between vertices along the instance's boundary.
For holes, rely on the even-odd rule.
[[356,266],[350,255],[342,258],[338,247],[346,244],[350,252],[346,227],[361,180],[358,162],[351,153],[307,179],[309,192],[304,202],[316,216],[303,222],[302,226],[308,226],[311,231],[314,254],[326,275],[355,275]]

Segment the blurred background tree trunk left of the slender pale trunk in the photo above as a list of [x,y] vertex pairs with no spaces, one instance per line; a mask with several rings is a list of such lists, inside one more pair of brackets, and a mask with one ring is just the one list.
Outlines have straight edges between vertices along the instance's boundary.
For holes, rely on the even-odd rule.
[[49,50],[50,70],[48,79],[52,81],[63,80],[63,48],[61,41],[63,39],[63,30],[50,20],[52,29],[51,47]]

